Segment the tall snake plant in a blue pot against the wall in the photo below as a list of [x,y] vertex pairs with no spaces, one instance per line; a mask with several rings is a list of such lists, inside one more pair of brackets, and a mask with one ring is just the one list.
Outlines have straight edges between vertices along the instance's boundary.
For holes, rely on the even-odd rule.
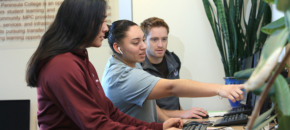
[[[249,20],[246,22],[243,0],[229,0],[229,4],[227,0],[213,0],[216,10],[209,0],[202,1],[222,57],[225,83],[240,84],[241,81],[233,75],[241,70],[242,59],[259,50],[267,39],[268,35],[258,30],[271,22],[269,3],[251,0]],[[233,107],[240,105],[239,102],[230,103]]]

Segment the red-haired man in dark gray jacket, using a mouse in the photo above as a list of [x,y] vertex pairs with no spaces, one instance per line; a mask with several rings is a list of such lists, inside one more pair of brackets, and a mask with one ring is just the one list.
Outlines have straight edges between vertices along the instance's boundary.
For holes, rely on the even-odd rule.
[[[180,60],[167,48],[169,27],[163,19],[152,17],[144,20],[140,28],[145,34],[147,49],[145,61],[142,62],[143,70],[151,75],[165,79],[179,79]],[[204,109],[194,107],[184,111],[176,96],[156,99],[157,108],[168,117],[201,118],[199,115],[208,114]],[[162,113],[162,112],[161,112]],[[158,112],[158,118],[160,114]]]

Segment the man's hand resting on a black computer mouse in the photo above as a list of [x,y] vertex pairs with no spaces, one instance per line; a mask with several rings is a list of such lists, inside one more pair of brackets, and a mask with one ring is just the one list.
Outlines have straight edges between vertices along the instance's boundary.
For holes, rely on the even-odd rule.
[[193,107],[191,109],[188,109],[186,111],[181,111],[181,112],[183,114],[180,118],[184,118],[184,119],[188,119],[188,118],[192,118],[192,117],[202,119],[202,117],[200,117],[200,116],[206,116],[207,114],[209,114],[204,109],[198,108],[198,107]]

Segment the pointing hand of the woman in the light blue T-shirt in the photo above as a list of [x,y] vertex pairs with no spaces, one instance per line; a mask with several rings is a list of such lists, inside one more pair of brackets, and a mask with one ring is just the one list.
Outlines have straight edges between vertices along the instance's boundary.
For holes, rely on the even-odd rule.
[[230,99],[232,102],[244,99],[244,92],[241,90],[244,88],[244,84],[239,85],[222,85],[220,87],[219,95]]

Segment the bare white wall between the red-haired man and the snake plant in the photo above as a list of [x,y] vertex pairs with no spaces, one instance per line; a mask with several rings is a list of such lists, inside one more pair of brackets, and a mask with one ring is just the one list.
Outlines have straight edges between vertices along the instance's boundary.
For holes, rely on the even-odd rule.
[[[224,69],[213,31],[202,1],[133,0],[133,22],[146,18],[164,19],[169,26],[169,51],[181,60],[180,78],[224,84]],[[207,111],[230,109],[228,99],[180,98],[183,109],[200,107]]]

